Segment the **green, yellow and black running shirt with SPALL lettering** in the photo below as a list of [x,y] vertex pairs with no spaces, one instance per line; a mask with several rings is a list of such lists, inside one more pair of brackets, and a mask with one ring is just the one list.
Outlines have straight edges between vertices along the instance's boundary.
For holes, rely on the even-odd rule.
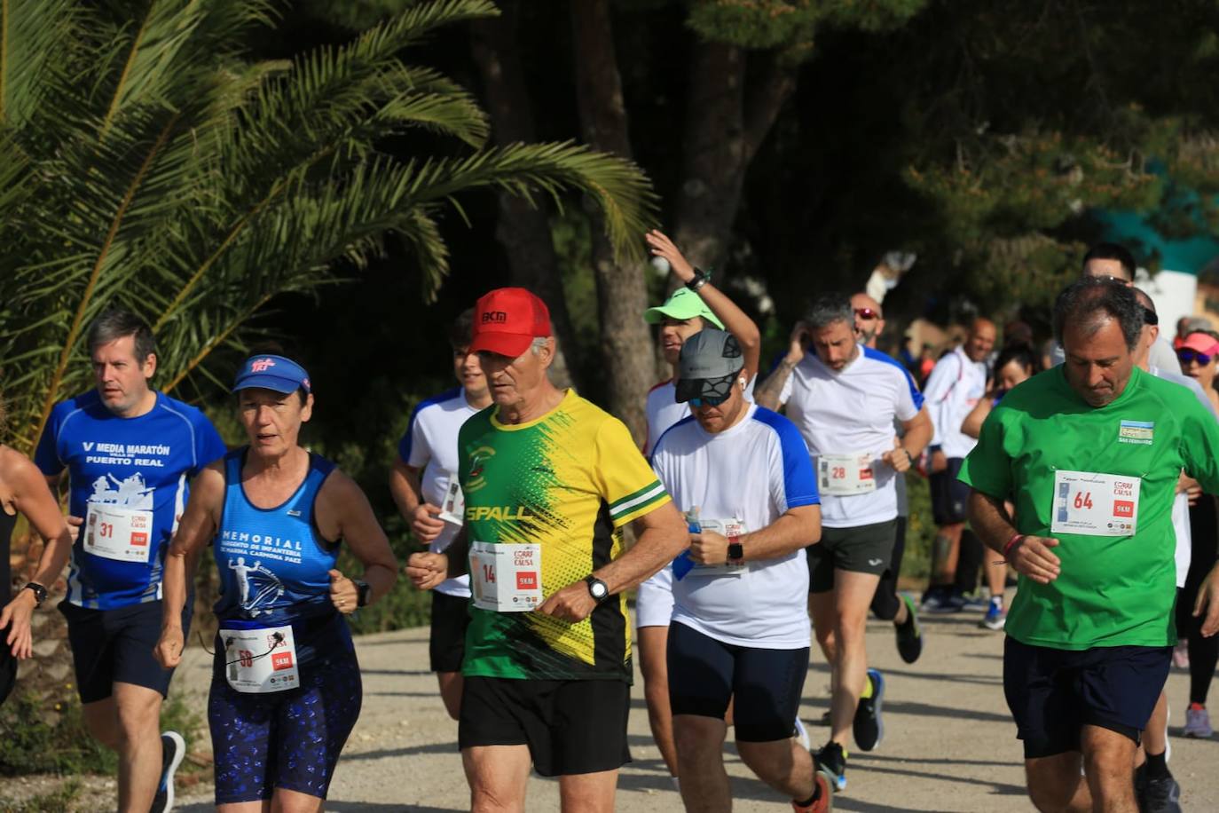
[[[568,390],[536,421],[491,406],[458,434],[469,542],[541,547],[545,600],[622,553],[620,529],[669,501],[620,421]],[[627,598],[579,623],[469,608],[462,673],[483,678],[631,680]]]

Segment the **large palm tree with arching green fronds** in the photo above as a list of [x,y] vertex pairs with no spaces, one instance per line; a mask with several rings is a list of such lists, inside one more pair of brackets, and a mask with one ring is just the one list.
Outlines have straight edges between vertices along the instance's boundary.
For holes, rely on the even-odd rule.
[[[435,28],[494,16],[432,0],[341,46],[251,61],[269,0],[0,0],[0,382],[16,445],[90,386],[89,322],[111,305],[155,325],[158,383],[211,377],[218,347],[285,291],[338,280],[396,234],[447,273],[438,228],[457,196],[495,188],[596,200],[623,255],[655,211],[642,172],[570,143],[488,147],[472,96],[403,62]],[[388,137],[453,139],[396,158]]]

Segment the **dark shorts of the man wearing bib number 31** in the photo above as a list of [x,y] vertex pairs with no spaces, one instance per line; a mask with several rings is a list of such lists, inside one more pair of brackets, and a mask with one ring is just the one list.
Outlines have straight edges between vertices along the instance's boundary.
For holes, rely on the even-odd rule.
[[[190,635],[194,605],[194,594],[188,595],[182,611],[183,640]],[[168,695],[173,669],[162,669],[152,657],[161,640],[161,601],[115,609],[87,609],[61,601],[59,608],[68,622],[68,644],[82,703],[106,700],[113,694],[116,683],[152,689],[162,697]]]

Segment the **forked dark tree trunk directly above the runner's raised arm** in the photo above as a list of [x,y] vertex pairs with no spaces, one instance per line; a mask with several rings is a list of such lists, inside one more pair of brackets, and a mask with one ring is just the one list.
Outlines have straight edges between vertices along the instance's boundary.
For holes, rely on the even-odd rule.
[[768,60],[746,88],[744,50],[713,41],[694,48],[674,240],[703,268],[727,260],[750,161],[796,87],[790,68]]

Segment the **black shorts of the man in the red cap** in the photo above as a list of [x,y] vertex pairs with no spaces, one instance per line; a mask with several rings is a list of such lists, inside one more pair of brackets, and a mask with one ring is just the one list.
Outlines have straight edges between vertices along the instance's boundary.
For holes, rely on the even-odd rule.
[[457,744],[527,745],[541,776],[616,770],[630,762],[623,680],[533,680],[467,676]]

